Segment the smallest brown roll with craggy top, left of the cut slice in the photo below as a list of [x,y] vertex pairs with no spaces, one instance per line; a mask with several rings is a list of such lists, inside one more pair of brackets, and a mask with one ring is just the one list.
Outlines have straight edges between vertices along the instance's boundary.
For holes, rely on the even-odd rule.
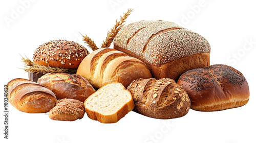
[[51,120],[58,121],[75,121],[83,117],[84,104],[75,99],[61,99],[57,100],[57,104],[49,112]]

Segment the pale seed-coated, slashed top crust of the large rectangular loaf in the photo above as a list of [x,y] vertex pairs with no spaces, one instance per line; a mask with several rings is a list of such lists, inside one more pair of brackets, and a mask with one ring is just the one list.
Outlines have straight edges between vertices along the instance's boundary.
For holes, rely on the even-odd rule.
[[210,45],[204,37],[162,20],[142,20],[123,27],[114,45],[157,66],[185,56],[210,53]]

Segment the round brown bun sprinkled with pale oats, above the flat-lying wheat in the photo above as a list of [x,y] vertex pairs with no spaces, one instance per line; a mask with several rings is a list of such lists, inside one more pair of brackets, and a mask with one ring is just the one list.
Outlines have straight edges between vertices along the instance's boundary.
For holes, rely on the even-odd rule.
[[36,49],[33,60],[39,65],[77,68],[88,54],[86,47],[74,41],[52,40]]

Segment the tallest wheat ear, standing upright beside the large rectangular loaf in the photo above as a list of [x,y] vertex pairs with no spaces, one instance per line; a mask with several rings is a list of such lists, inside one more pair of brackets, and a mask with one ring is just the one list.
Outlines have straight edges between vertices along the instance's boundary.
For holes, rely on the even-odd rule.
[[120,18],[119,21],[116,19],[115,26],[111,29],[111,31],[108,31],[108,34],[106,35],[105,41],[101,44],[101,47],[110,47],[110,44],[113,42],[114,38],[116,37],[116,34],[119,32],[119,30],[124,26],[125,19],[133,12],[133,9],[128,9],[126,13],[123,14],[123,16]]

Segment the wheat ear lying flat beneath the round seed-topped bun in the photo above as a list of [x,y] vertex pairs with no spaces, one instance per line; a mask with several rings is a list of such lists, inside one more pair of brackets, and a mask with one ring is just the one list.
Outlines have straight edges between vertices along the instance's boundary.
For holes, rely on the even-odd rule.
[[60,68],[60,67],[51,67],[51,66],[44,66],[44,65],[38,65],[32,62],[28,58],[23,58],[22,61],[25,63],[25,68],[23,68],[25,71],[28,71],[30,73],[76,73],[76,69],[71,68]]

